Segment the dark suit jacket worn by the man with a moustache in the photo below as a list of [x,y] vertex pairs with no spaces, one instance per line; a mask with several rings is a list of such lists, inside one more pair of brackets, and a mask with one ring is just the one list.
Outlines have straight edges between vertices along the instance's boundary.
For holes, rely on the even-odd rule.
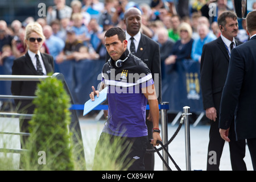
[[[236,40],[236,46],[242,42]],[[220,113],[222,90],[228,74],[229,54],[221,36],[203,46],[200,65],[200,84],[204,109],[215,107]]]

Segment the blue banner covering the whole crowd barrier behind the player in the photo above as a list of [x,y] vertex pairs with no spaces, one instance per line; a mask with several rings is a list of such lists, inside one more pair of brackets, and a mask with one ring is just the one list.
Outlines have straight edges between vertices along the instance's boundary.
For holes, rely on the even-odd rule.
[[[11,75],[13,60],[14,57],[6,58],[4,64],[0,66],[1,75]],[[104,64],[105,60],[67,60],[55,64],[55,72],[64,75],[75,105],[83,106],[89,100],[92,86],[97,88],[101,82]],[[165,74],[162,80],[162,102],[169,102],[170,112],[183,111],[184,106],[189,106],[191,112],[204,111],[200,88],[200,63],[183,60],[167,66],[162,74]],[[0,81],[0,94],[11,94],[10,83],[11,81]],[[78,109],[79,106],[73,108],[81,110]]]

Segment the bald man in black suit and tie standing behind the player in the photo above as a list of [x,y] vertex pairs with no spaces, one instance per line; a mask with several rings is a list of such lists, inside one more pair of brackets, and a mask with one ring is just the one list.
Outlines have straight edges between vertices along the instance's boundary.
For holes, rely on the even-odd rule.
[[[127,47],[133,55],[139,57],[152,73],[155,82],[156,94],[158,95],[158,102],[162,100],[162,79],[161,79],[161,61],[160,61],[160,47],[154,40],[142,34],[141,30],[141,11],[135,7],[131,7],[125,11],[124,22],[126,24],[126,39],[128,41]],[[152,138],[152,119],[150,111],[147,110],[146,124],[148,129],[148,138]],[[148,142],[147,149],[152,149]],[[154,170],[154,153],[146,154],[144,157],[145,169],[147,171]]]

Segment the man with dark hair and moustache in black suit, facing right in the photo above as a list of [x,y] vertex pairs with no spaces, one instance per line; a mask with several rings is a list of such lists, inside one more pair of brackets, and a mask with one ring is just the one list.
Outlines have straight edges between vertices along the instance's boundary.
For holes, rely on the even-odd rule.
[[[218,26],[221,30],[221,36],[203,46],[200,68],[203,105],[205,114],[210,119],[207,170],[219,170],[225,143],[218,131],[221,94],[228,73],[230,51],[233,47],[242,44],[242,42],[234,39],[238,32],[236,14],[232,11],[222,13],[218,17]],[[245,140],[236,141],[234,121],[230,126],[230,138],[233,139],[229,143],[232,169],[246,170],[246,165],[243,161],[245,157]],[[213,154],[216,155],[216,160],[213,160]]]

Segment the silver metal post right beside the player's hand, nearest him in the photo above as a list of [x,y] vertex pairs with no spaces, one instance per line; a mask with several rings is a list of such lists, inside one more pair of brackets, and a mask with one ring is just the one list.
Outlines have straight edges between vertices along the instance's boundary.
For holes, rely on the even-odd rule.
[[[169,102],[161,102],[161,105],[169,105]],[[168,142],[168,128],[167,128],[167,109],[160,109],[161,113],[161,125],[162,125],[162,140],[163,143],[166,144]],[[168,150],[168,146],[166,146]],[[168,164],[168,154],[163,150],[163,159]],[[163,171],[168,171],[168,168],[163,163]]]

